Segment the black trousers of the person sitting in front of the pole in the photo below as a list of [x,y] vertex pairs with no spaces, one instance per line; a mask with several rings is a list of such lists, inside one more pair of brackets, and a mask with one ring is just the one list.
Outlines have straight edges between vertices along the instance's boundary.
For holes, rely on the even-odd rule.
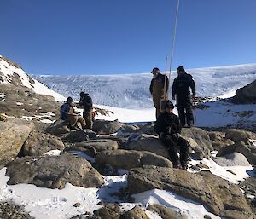
[[[172,164],[186,164],[189,159],[189,142],[183,139],[183,137],[176,137],[174,135],[164,135],[160,139],[164,145],[168,148],[169,156]],[[177,147],[179,147],[180,157],[178,158]]]

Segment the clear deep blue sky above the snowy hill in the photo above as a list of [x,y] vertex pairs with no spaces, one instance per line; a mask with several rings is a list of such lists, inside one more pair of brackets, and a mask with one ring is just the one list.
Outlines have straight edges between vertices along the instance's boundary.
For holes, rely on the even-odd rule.
[[[33,74],[165,69],[177,0],[0,0],[0,54]],[[172,70],[256,62],[256,0],[181,0]]]

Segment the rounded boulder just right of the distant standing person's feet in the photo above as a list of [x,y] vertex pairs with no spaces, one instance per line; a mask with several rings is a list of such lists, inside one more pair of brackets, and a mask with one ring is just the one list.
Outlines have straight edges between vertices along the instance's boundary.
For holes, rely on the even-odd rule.
[[93,123],[92,130],[97,134],[109,135],[116,133],[124,124],[118,121],[107,121],[103,119],[96,119]]

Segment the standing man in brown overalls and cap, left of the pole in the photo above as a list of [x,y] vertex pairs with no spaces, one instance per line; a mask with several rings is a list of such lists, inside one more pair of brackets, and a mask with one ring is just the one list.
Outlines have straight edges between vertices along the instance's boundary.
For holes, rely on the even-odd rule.
[[[158,118],[160,115],[160,100],[164,96],[164,93],[168,91],[169,80],[165,75],[160,73],[159,68],[154,67],[152,72],[153,78],[150,83],[150,93],[153,97],[154,107],[155,107],[155,117]],[[166,78],[166,88],[165,87]],[[166,89],[166,90],[165,90]]]

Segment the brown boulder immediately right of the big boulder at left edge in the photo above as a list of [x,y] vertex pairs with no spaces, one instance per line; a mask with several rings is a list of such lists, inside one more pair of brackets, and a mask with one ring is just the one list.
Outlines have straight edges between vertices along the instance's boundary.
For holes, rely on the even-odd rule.
[[60,138],[32,131],[22,147],[22,153],[25,156],[39,156],[44,155],[44,153],[50,150],[63,151],[64,148],[65,146]]

